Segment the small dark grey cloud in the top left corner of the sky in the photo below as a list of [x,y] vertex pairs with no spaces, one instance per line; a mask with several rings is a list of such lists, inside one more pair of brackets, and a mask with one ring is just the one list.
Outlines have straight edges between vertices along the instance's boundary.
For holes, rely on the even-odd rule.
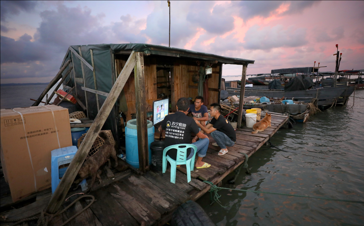
[[7,21],[10,15],[19,15],[21,11],[31,12],[36,6],[36,1],[0,1],[0,20]]

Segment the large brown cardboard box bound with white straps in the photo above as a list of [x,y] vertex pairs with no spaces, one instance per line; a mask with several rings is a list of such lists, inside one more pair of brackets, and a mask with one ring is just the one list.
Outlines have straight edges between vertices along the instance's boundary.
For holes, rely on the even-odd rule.
[[51,187],[51,151],[72,146],[68,109],[0,110],[1,164],[13,202]]

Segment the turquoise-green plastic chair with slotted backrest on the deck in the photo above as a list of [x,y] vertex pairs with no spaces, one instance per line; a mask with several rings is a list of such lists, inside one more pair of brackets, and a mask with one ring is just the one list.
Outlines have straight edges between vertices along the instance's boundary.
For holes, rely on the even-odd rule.
[[[166,156],[167,151],[170,149],[177,149],[177,158],[176,160],[173,160],[171,157]],[[187,158],[187,149],[193,148],[194,149],[194,155],[189,160],[186,160]],[[187,169],[187,182],[191,181],[191,171],[193,171],[193,167],[195,164],[195,156],[197,153],[197,147],[193,144],[176,144],[168,146],[163,150],[163,171],[162,173],[165,173],[167,170],[167,160],[171,164],[171,183],[176,183],[176,170],[177,165],[186,165]]]

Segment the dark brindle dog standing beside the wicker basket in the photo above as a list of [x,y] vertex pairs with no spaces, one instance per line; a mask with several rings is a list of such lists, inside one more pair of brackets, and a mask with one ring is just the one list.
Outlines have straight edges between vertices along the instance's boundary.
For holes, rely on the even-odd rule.
[[116,151],[114,148],[114,145],[110,143],[109,138],[107,137],[107,134],[104,132],[101,132],[99,136],[104,140],[104,144],[100,148],[98,152],[96,152],[94,155],[92,155],[90,158],[88,158],[82,165],[80,171],[78,171],[78,179],[75,179],[74,183],[78,185],[83,179],[91,176],[92,182],[91,186],[88,187],[87,192],[89,192],[92,188],[92,186],[95,183],[96,177],[99,179],[99,183],[102,183],[100,175],[97,173],[99,168],[103,166],[107,161],[109,168],[111,167],[110,157],[112,157],[115,160],[115,166],[118,165],[118,158],[116,158]]

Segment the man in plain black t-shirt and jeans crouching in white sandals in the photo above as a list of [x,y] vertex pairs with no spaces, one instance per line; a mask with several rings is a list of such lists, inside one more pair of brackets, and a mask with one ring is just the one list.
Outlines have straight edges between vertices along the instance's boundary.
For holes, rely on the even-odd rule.
[[210,105],[210,114],[214,117],[206,127],[202,126],[198,121],[197,125],[205,131],[210,133],[218,146],[220,146],[219,156],[223,156],[228,152],[226,146],[231,147],[235,144],[236,133],[232,125],[221,115],[221,107],[219,104],[214,103]]

